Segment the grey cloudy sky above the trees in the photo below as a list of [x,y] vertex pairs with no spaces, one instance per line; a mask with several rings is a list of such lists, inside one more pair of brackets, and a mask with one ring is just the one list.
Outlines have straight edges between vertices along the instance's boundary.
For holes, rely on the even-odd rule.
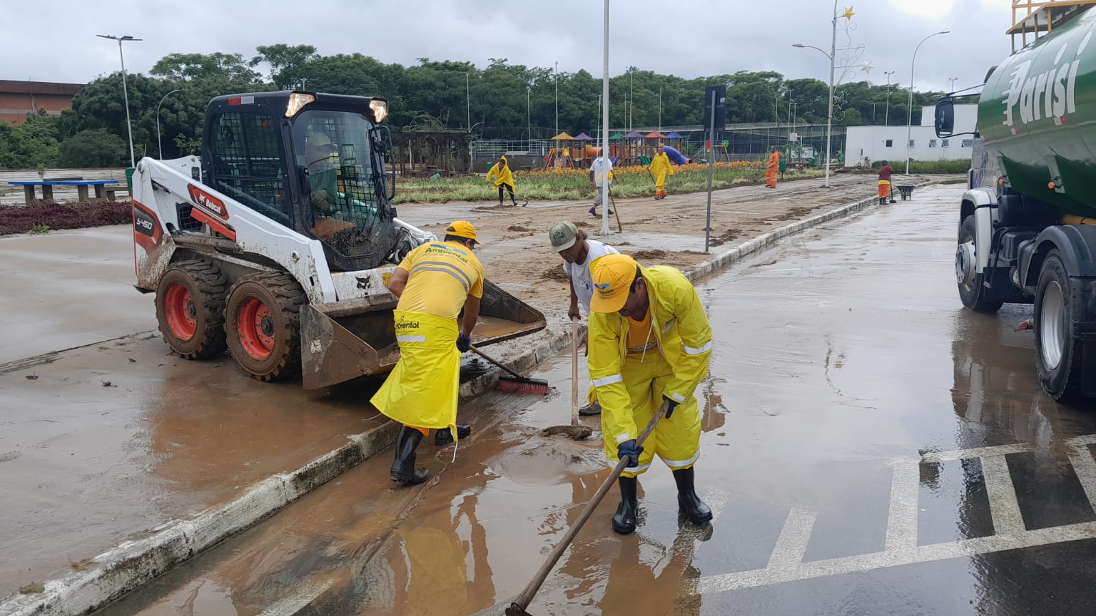
[[[945,90],[981,83],[986,69],[1009,53],[1004,31],[1011,0],[838,0],[852,5],[854,44],[875,69],[866,77],[910,82],[914,47],[941,30],[917,54],[915,87]],[[602,75],[598,0],[39,0],[0,20],[0,79],[83,83],[117,70],[117,45],[95,34],[129,34],[126,67],[147,72],[173,52],[240,53],[256,45],[309,44],[323,55],[358,52],[386,62],[419,57],[488,58]],[[827,0],[613,0],[610,65],[681,77],[738,70],[775,70],[788,78],[829,78]],[[0,22],[2,23],[2,22]],[[710,34],[703,34],[707,30]],[[838,47],[844,36],[838,34]],[[838,57],[841,53],[838,52]],[[865,78],[857,72],[854,79]]]

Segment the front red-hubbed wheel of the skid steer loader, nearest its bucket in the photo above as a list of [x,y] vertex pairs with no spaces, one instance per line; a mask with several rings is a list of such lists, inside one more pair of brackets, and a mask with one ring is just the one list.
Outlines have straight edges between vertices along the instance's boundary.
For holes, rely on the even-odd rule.
[[232,357],[252,377],[279,380],[300,373],[300,307],[305,292],[288,274],[244,276],[228,292],[225,331]]

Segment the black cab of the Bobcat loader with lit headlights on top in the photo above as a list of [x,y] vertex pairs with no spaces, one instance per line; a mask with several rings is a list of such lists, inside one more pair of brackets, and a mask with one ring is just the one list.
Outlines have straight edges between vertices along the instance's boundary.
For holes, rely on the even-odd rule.
[[376,267],[399,233],[384,99],[315,92],[218,96],[206,112],[203,183],[322,242],[333,270]]

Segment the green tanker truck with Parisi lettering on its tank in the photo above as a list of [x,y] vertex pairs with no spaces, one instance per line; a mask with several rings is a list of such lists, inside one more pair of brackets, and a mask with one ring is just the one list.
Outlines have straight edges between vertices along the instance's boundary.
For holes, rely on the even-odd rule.
[[[969,187],[959,204],[963,306],[1032,304],[1035,363],[1060,402],[1096,396],[1096,9],[1012,55],[978,103]],[[955,102],[936,133],[952,136]]]

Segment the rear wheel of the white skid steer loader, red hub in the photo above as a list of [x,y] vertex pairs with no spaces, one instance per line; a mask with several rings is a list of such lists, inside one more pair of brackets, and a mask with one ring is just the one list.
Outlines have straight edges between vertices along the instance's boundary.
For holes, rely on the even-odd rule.
[[156,287],[156,320],[163,341],[184,360],[225,352],[228,280],[216,263],[180,261]]

